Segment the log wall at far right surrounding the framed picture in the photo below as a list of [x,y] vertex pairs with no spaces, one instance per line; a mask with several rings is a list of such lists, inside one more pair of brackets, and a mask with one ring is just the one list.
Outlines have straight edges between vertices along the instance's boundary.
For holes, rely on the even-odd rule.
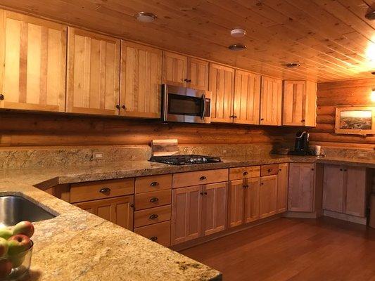
[[371,90],[375,78],[318,84],[317,127],[310,130],[313,144],[349,148],[375,148],[375,136],[356,136],[335,133],[336,106],[373,105]]

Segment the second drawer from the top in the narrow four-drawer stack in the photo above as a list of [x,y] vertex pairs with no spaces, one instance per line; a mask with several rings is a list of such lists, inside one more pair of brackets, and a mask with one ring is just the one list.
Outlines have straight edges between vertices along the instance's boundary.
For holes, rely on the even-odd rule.
[[168,205],[172,200],[172,190],[160,190],[135,195],[135,209],[143,210]]

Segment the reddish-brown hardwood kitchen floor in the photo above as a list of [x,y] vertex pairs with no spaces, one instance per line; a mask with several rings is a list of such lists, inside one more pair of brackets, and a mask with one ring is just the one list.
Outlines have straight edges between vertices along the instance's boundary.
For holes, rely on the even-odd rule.
[[375,230],[334,218],[280,218],[181,251],[236,280],[375,280]]

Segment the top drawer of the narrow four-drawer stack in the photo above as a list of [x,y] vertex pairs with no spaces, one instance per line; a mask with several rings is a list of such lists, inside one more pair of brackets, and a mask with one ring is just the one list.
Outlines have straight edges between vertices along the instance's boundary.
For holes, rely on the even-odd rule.
[[142,176],[135,179],[135,192],[166,190],[172,188],[172,174],[160,176]]

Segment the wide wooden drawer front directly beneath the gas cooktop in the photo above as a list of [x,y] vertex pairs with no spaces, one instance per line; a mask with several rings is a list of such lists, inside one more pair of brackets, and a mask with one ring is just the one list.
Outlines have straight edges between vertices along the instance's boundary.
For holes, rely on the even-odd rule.
[[182,188],[191,185],[204,185],[228,181],[228,169],[208,171],[190,171],[187,173],[173,174],[173,188]]

